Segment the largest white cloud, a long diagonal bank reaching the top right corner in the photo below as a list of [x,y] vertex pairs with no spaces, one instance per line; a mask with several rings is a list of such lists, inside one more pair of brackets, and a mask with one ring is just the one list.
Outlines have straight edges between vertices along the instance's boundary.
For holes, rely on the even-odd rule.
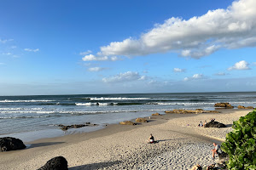
[[210,10],[189,20],[170,18],[139,38],[101,47],[99,56],[135,56],[176,52],[199,59],[220,48],[256,46],[256,1],[234,1],[227,9]]

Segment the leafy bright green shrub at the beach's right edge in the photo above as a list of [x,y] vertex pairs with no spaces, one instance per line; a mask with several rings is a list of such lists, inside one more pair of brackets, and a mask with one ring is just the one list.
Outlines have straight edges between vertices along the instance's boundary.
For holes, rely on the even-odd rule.
[[226,134],[221,149],[230,156],[231,170],[256,169],[256,109],[233,122],[233,131]]

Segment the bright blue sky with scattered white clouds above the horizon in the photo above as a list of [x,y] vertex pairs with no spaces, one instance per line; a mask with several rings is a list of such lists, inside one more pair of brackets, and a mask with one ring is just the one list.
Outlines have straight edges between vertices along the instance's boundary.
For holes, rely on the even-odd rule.
[[256,91],[255,0],[0,0],[0,95]]

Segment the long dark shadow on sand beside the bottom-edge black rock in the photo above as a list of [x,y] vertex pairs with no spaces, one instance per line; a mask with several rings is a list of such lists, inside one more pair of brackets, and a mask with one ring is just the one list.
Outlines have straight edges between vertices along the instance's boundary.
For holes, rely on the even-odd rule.
[[68,167],[68,170],[83,170],[83,169],[90,169],[96,170],[103,167],[112,167],[113,165],[119,164],[121,161],[107,161],[101,163],[92,163],[87,165],[81,165],[77,167]]

